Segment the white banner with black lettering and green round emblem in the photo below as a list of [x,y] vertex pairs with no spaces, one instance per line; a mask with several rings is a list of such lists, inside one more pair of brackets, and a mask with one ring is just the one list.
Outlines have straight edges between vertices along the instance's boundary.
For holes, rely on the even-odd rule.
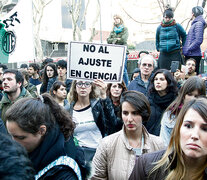
[[0,62],[34,60],[32,1],[19,0],[5,16],[0,17]]

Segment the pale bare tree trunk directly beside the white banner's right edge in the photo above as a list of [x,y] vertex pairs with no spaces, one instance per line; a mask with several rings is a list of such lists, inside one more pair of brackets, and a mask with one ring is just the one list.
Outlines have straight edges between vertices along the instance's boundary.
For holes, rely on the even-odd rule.
[[53,0],[33,0],[34,44],[37,59],[43,59],[43,50],[40,40],[40,24],[44,8]]

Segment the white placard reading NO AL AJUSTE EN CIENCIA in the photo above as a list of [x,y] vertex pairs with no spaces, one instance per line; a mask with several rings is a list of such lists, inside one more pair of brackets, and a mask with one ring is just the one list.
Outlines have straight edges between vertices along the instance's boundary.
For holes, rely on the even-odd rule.
[[105,82],[121,82],[126,46],[69,42],[67,78]]

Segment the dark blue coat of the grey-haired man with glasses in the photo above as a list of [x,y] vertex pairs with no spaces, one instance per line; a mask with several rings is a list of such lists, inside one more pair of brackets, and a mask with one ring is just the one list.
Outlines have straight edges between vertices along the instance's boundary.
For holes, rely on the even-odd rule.
[[[152,77],[152,75],[150,76],[150,78],[151,77]],[[150,82],[150,78],[149,78],[149,82]],[[148,87],[149,87],[149,84],[148,84]],[[144,95],[147,96],[148,87],[145,88],[144,81],[141,79],[141,75],[139,75],[129,84],[127,89],[128,90],[139,91],[139,92],[141,92],[141,93],[143,93]]]

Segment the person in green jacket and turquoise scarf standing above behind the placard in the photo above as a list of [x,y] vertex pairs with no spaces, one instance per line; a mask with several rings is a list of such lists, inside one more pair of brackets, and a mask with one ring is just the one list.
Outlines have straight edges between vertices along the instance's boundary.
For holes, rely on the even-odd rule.
[[[124,26],[124,22],[119,15],[114,15],[114,26],[113,30],[111,31],[109,37],[107,38],[108,44],[118,44],[118,45],[126,45],[127,46],[127,39],[128,39],[128,29]],[[129,52],[127,52],[128,55]],[[123,79],[128,86],[129,77],[127,73],[127,55],[124,65],[124,75]]]

